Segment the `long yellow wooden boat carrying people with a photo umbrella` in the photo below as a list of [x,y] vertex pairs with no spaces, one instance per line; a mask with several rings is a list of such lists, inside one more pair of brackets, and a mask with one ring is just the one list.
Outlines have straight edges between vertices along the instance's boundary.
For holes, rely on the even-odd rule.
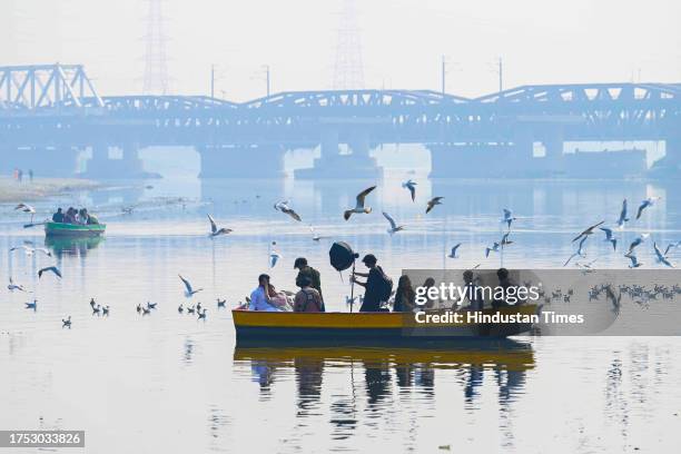
[[[233,310],[237,339],[387,339],[391,342],[416,338],[448,339],[506,337],[526,333],[532,328],[529,320],[539,314],[540,307],[533,304],[506,306],[497,309],[486,308],[478,314],[516,317],[517,323],[454,323],[452,314],[466,314],[465,310],[428,310],[430,323],[425,315],[414,313],[292,313]],[[434,322],[436,320],[436,322]],[[441,322],[450,320],[450,323]]]

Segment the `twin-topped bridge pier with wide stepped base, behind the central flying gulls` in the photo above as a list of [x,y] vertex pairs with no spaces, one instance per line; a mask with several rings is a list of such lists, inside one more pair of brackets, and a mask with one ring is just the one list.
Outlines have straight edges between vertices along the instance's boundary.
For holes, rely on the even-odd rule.
[[348,140],[351,154],[338,152],[338,132],[325,131],[320,138],[322,156],[315,159],[314,166],[296,169],[296,178],[371,178],[383,176],[383,168],[376,158],[369,156],[371,139],[368,130],[353,131]]

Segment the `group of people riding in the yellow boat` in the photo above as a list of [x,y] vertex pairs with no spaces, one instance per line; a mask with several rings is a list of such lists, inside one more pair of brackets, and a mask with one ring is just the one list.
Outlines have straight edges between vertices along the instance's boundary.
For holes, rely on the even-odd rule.
[[[392,279],[378,266],[378,260],[373,254],[364,256],[362,263],[368,268],[368,272],[353,272],[351,276],[351,282],[365,289],[359,312],[389,312],[391,306],[393,312],[401,313],[435,307],[434,300],[428,300],[423,306],[416,305],[416,292],[407,275],[399,276],[397,289],[393,293]],[[298,269],[296,286],[300,288],[296,294],[277,290],[270,283],[270,277],[261,274],[258,276],[258,287],[253,290],[249,303],[243,306],[243,308],[267,312],[325,312],[319,272],[309,266],[305,257],[296,258],[294,268]],[[496,272],[496,276],[501,286],[510,287],[514,285],[510,280],[507,269],[500,268]],[[358,278],[365,278],[365,280],[359,280]],[[463,278],[466,287],[476,286],[472,270],[466,270]],[[433,286],[435,286],[435,279],[432,277],[426,278],[423,283],[423,287],[430,288]],[[471,292],[470,294],[477,295],[476,292]],[[484,307],[484,300],[478,296],[471,297],[468,303],[470,308],[473,310],[482,310]],[[493,302],[493,307],[504,305],[507,304],[503,300]]]

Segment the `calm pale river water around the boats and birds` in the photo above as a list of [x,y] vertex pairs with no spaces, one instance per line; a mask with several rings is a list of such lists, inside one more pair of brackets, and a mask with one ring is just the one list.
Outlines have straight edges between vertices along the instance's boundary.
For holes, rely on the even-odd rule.
[[[56,205],[91,207],[108,224],[101,241],[46,245],[39,228],[22,228],[26,215],[0,206],[0,276],[32,292],[0,290],[0,428],[85,430],[88,453],[675,452],[679,337],[519,337],[454,349],[418,348],[417,339],[399,348],[235,345],[230,312],[216,298],[235,307],[263,272],[295,289],[297,256],[320,270],[327,308],[348,310],[347,273],[328,265],[333,240],[375,254],[395,280],[403,268],[495,268],[502,257],[485,258],[484,248],[509,207],[519,219],[503,265],[557,268],[575,233],[613,224],[623,198],[633,209],[649,196],[662,199],[621,244],[642,231],[660,244],[681,239],[673,186],[413,177],[416,203],[404,178],[387,177],[367,198],[374,213],[347,223],[343,209],[371,181],[168,179],[37,204],[38,219]],[[444,205],[426,216],[432,196]],[[273,209],[287,198],[303,223]],[[387,235],[382,210],[406,229]],[[207,214],[234,233],[208,238]],[[312,240],[308,225],[330,238]],[[9,251],[24,240],[53,257]],[[272,241],[282,259],[269,269]],[[446,258],[460,241],[461,258]],[[589,254],[601,267],[629,264],[600,238]],[[658,266],[652,243],[639,258]],[[52,264],[63,279],[38,280]],[[203,288],[190,302],[178,274]],[[110,315],[92,315],[90,298]],[[26,309],[32,299],[37,309]],[[136,305],[148,300],[158,309],[140,316]],[[206,320],[178,314],[180,303],[198,302]]]

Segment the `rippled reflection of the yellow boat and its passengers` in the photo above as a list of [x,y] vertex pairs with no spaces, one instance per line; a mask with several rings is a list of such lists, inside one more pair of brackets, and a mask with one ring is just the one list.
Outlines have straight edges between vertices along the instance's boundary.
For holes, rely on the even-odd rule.
[[[328,347],[272,347],[239,342],[234,359],[236,367],[250,366],[253,381],[266,398],[278,379],[285,382],[293,375],[297,417],[317,414],[323,404],[330,413],[328,421],[336,440],[351,436],[363,421],[363,412],[376,416],[391,413],[395,398],[418,399],[418,407],[434,407],[436,384],[444,389],[442,398],[451,401],[455,383],[465,403],[461,409],[470,411],[480,406],[476,401],[486,376],[486,383],[492,381],[497,387],[499,405],[505,412],[524,394],[526,373],[535,366],[532,345],[512,339],[433,343],[420,348],[338,343]],[[323,393],[325,381],[327,389]]]

